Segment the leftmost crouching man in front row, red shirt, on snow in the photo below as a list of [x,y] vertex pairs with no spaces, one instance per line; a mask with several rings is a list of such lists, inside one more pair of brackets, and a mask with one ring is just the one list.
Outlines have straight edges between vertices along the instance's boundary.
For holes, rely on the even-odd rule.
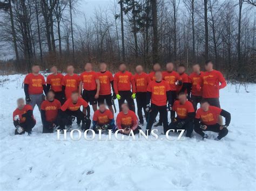
[[31,134],[32,128],[36,125],[31,105],[25,105],[23,98],[17,100],[17,109],[13,113],[15,135],[22,135],[25,132]]

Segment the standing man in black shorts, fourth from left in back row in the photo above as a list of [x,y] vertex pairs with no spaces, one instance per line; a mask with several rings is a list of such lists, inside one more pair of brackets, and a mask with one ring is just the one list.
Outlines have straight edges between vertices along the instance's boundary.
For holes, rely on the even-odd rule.
[[[97,99],[99,97],[100,83],[96,72],[92,70],[92,64],[87,62],[84,66],[85,72],[80,74],[83,83],[83,99],[92,105],[93,111],[97,110]],[[79,87],[82,91],[82,84]],[[88,109],[90,107],[87,107]],[[90,114],[90,111],[87,111]]]

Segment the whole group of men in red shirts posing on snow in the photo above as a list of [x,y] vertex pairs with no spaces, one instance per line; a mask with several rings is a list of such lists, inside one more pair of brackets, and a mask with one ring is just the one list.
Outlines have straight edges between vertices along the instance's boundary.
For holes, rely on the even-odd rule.
[[[41,111],[43,133],[53,132],[56,126],[62,131],[69,130],[75,118],[78,125],[82,122],[81,129],[85,131],[91,126],[90,104],[94,111],[92,129],[96,133],[98,130],[119,129],[124,135],[131,131],[136,134],[145,118],[146,131],[150,135],[159,112],[159,122],[155,126],[163,124],[165,133],[170,129],[184,129],[186,137],[191,137],[194,130],[207,138],[205,131],[213,131],[219,133],[215,138],[219,140],[227,135],[231,121],[230,113],[220,109],[219,103],[219,89],[226,86],[226,81],[219,71],[213,69],[211,61],[205,62],[206,72],[201,72],[198,64],[192,69],[193,73],[188,76],[184,65],[179,65],[176,72],[173,63],[168,62],[166,71],[161,72],[159,63],[155,63],[150,74],[138,65],[136,74],[132,75],[126,70],[125,63],[120,63],[119,72],[113,77],[105,62],[100,63],[99,72],[94,72],[92,64],[87,62],[85,72],[80,75],[74,73],[72,65],[67,67],[65,76],[53,66],[52,74],[45,82],[44,76],[39,74],[39,66],[34,65],[32,73],[24,80],[26,104],[22,98],[17,100],[18,108],[13,115],[15,134],[31,133],[36,124],[32,114],[35,105]],[[112,104],[116,98],[119,114],[115,123]],[[198,103],[201,104],[199,109]],[[171,112],[170,124],[168,111]],[[225,125],[221,116],[225,117]]]

